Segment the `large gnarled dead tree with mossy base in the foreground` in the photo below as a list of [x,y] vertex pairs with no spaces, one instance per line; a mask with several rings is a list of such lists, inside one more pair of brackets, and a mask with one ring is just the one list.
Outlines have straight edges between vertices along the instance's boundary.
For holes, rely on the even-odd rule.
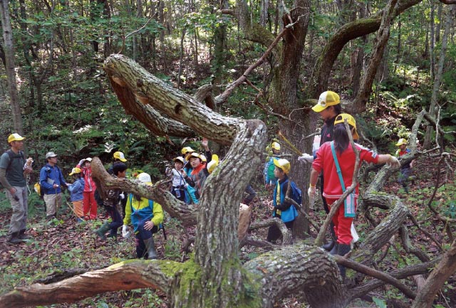
[[[223,117],[150,75],[123,55],[108,58],[105,70],[127,112],[141,104],[150,105],[160,117],[187,124],[197,134],[231,145],[225,159],[207,179],[197,207],[180,203],[160,185],[141,186],[126,179],[114,179],[98,159],[93,159],[93,175],[103,187],[118,187],[153,198],[184,225],[196,223],[195,255],[183,263],[125,261],[48,285],[37,283],[18,287],[0,297],[1,308],[76,302],[103,292],[144,287],[165,292],[170,307],[274,307],[278,299],[291,294],[301,294],[310,307],[346,307],[351,300],[385,282],[397,287],[405,297],[415,298],[415,292],[399,279],[427,273],[438,260],[398,269],[390,275],[370,267],[373,255],[402,230],[410,214],[397,197],[375,193],[393,169],[383,167],[364,196],[364,203],[380,206],[389,213],[368,234],[361,247],[353,250],[353,260],[361,262],[331,257],[321,248],[298,243],[242,264],[238,255],[239,203],[245,186],[262,161],[261,153],[266,143],[264,123]],[[454,259],[455,246],[453,243],[436,271],[441,266],[448,268]],[[347,286],[338,276],[337,262],[363,275],[373,276],[375,280],[346,290]],[[434,277],[433,282],[442,283],[448,275],[437,272]],[[438,289],[426,290],[428,300]]]

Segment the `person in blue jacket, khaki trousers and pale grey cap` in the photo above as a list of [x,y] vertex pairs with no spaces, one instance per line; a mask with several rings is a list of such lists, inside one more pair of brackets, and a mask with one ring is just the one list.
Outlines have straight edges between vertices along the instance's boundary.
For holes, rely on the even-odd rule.
[[57,154],[46,153],[47,164],[40,170],[40,184],[44,192],[44,203],[46,203],[46,221],[57,217],[58,209],[62,205],[61,187],[68,186],[61,169],[57,166]]

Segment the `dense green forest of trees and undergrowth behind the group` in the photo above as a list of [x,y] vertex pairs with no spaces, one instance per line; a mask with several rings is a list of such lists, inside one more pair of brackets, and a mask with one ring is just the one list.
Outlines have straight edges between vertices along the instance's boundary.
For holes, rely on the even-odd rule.
[[[452,1],[398,1],[397,6],[406,9],[393,14],[389,38],[375,65],[371,86],[365,80],[372,73],[370,65],[378,51],[375,44],[379,36],[376,30],[366,29],[371,27],[369,18],[377,16],[387,1],[311,1],[309,25],[304,33],[306,40],[301,49],[294,51],[297,57],[291,57],[290,50],[274,45],[274,38],[281,36],[286,25],[298,27],[282,18],[289,16],[287,14],[294,7],[291,1],[1,2],[4,39],[0,57],[4,65],[0,65],[0,136],[6,139],[11,132],[24,134],[26,151],[36,161],[36,169],[44,164],[48,151],[59,155],[59,164],[65,172],[88,156],[98,156],[108,165],[113,152],[121,151],[128,158],[130,174],[142,170],[157,181],[165,177],[165,167],[183,146],[202,149],[201,137],[197,134],[174,137],[163,133],[162,129],[153,131],[135,116],[125,113],[103,70],[104,61],[113,53],[132,58],[155,77],[189,95],[210,84],[212,97],[219,97],[217,95],[224,93],[235,80],[247,76],[227,97],[207,100],[206,105],[225,116],[262,120],[269,129],[269,139],[278,138],[280,142],[280,130],[301,152],[309,152],[311,138],[287,134],[284,127],[294,120],[291,115],[296,109],[309,115],[310,120],[306,118],[306,121],[312,124],[306,126],[306,132],[314,132],[321,123],[316,115],[309,113],[309,108],[320,92],[333,90],[341,95],[343,107],[356,115],[362,143],[366,146],[383,153],[395,152],[395,142],[400,137],[409,138],[416,117],[421,110],[426,110],[442,129],[439,135],[441,152],[455,153],[456,10]],[[293,12],[291,9],[291,15]],[[250,23],[246,23],[246,16]],[[6,18],[11,25],[12,45],[6,35],[9,29]],[[358,26],[353,26],[356,22],[359,22]],[[268,35],[252,25],[261,26],[261,31],[268,31]],[[350,27],[353,27],[351,34],[344,34]],[[339,44],[340,51],[331,54],[328,48],[337,44],[335,38],[344,35],[350,38],[342,39],[346,43]],[[284,42],[293,39],[299,38],[281,38]],[[268,52],[269,46],[274,46],[272,53]],[[333,60],[327,60],[329,58]],[[16,91],[11,91],[8,83],[11,60]],[[325,70],[326,62],[331,62],[331,67]],[[280,95],[274,93],[276,78],[280,76],[276,68],[281,63],[296,65],[296,95],[291,97],[294,101],[289,108],[285,108],[278,99]],[[255,65],[254,70],[244,73],[252,65]],[[281,70],[281,73],[285,71]],[[321,72],[327,72],[323,81],[318,77]],[[282,90],[288,91],[286,89]],[[420,147],[435,147],[435,136],[434,129],[421,125],[417,135]],[[3,144],[2,148],[6,149],[6,142]],[[210,147],[221,156],[228,150],[215,142],[211,142]],[[296,155],[291,156],[291,160],[297,166]],[[304,166],[296,167],[293,176],[304,187],[308,176],[305,173],[302,176],[301,168]],[[425,171],[423,169],[423,180],[435,176],[427,165]],[[34,176],[38,176],[38,172],[31,177],[30,184],[36,181]],[[445,181],[452,183],[452,176],[454,171],[446,175]],[[438,185],[440,201],[435,205],[442,215],[454,219],[456,191],[454,185],[445,185],[445,181]],[[256,202],[266,202],[261,168],[256,171],[252,184],[259,191]],[[423,184],[423,190],[418,189],[413,196],[404,195],[404,198],[409,201],[416,198],[410,202],[424,203],[430,186],[432,183]],[[3,196],[0,198],[0,208],[8,213],[9,203]],[[42,201],[32,194],[31,203],[36,205],[31,207],[31,213],[32,217],[36,215],[38,223]],[[266,216],[266,212],[259,213],[256,218]],[[454,221],[452,223],[454,225]],[[3,225],[6,224],[5,220]],[[81,231],[81,227],[75,228]],[[442,241],[447,245],[453,239],[452,228],[444,227],[449,238]],[[51,229],[51,234],[61,231]],[[1,228],[0,232],[4,235],[6,228]],[[89,232],[85,234],[90,235]],[[165,257],[181,257],[178,235],[175,240],[176,243],[168,242],[167,250],[162,252]],[[90,240],[87,245],[89,243]],[[128,255],[127,250],[128,245],[120,245],[119,255],[110,261],[121,260]],[[66,256],[68,260],[58,262],[76,267],[69,264],[76,253],[72,250],[72,255]],[[249,250],[247,255],[257,253]],[[7,260],[11,253],[2,251],[2,254]],[[400,256],[398,260],[408,262]],[[24,276],[15,274],[11,279],[16,283],[30,282],[31,278]],[[11,285],[15,284],[2,286],[6,289],[2,288],[1,293],[11,290]],[[441,293],[444,299],[439,304],[452,307],[456,301],[451,293],[453,287],[451,284],[446,287],[445,292],[450,295],[445,297]],[[145,291],[138,296],[146,298],[146,302],[163,304],[160,294]],[[140,301],[133,300],[134,293],[123,297],[124,304],[125,298],[132,301],[130,307],[142,307]],[[381,302],[378,301],[374,301],[375,304]],[[450,304],[445,306],[445,301]],[[90,304],[105,307],[105,302],[109,300],[101,298]]]

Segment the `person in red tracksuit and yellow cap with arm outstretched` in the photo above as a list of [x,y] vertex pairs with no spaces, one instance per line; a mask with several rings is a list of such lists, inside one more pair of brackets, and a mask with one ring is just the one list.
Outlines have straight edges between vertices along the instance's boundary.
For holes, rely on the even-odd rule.
[[[337,173],[336,162],[333,158],[333,150],[336,154],[338,164],[341,169],[341,174],[343,178],[343,184],[345,188],[348,188],[352,184],[353,172],[355,170],[356,154],[351,147],[350,139],[348,137],[344,121],[347,120],[349,126],[351,127],[351,134],[353,138],[357,139],[358,134],[356,132],[356,121],[355,119],[346,113],[338,115],[334,121],[334,132],[333,142],[325,142],[321,145],[316,152],[316,159],[312,164],[312,171],[310,176],[310,187],[309,187],[309,197],[315,197],[315,186],[318,179],[318,174],[323,171],[323,177],[325,179],[323,186],[323,198],[326,199],[329,208],[332,204],[341,198],[343,191],[341,180],[339,179]],[[331,149],[333,146],[333,149]],[[367,161],[368,163],[373,164],[390,164],[393,166],[400,166],[398,159],[390,154],[380,155],[370,149],[361,147],[361,145],[356,144],[356,149],[360,152],[360,164],[362,161]],[[354,206],[356,211],[356,201],[358,199],[359,193],[359,184],[355,188],[354,196]],[[347,198],[348,200],[348,198]],[[337,243],[334,245],[333,250],[331,250],[331,255],[346,255],[351,250],[351,223],[353,222],[353,216],[350,217],[348,213],[344,210],[344,206],[341,205],[338,208],[337,213],[333,216],[334,231],[337,237]],[[345,267],[341,268],[341,275],[345,276]]]

